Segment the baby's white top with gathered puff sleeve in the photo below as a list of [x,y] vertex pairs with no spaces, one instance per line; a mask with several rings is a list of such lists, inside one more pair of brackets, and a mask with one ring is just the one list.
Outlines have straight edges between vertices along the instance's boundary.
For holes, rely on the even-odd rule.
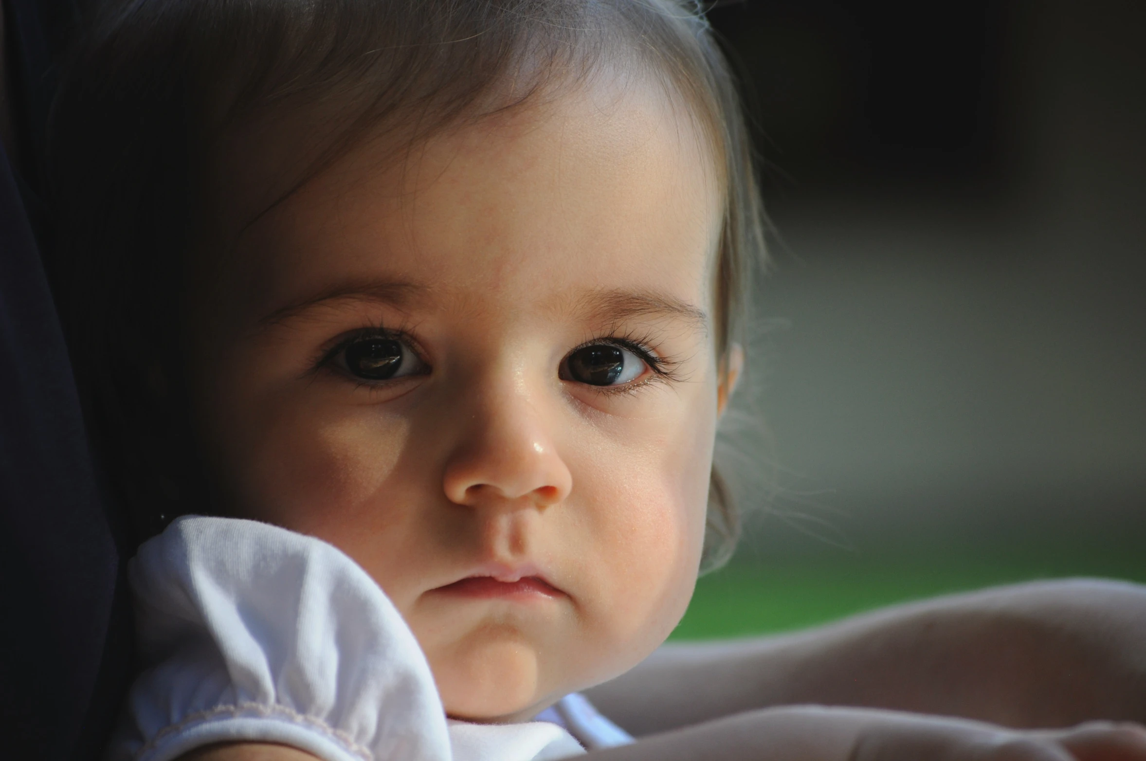
[[186,517],[128,568],[140,656],[109,750],[168,761],[262,740],[325,761],[542,761],[582,752],[544,722],[449,722],[417,641],[382,589],[317,539]]

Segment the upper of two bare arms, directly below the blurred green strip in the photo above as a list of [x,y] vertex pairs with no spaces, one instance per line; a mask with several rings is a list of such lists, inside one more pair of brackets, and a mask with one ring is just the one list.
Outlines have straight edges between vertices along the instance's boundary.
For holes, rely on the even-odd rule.
[[634,735],[792,704],[1007,727],[1146,721],[1146,587],[1070,580],[886,609],[808,631],[670,644],[588,691]]

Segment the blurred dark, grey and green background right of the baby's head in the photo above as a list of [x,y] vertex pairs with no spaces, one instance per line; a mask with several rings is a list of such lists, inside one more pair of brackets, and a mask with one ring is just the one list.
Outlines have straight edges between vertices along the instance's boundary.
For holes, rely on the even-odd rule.
[[721,2],[774,225],[676,638],[1146,581],[1146,3]]

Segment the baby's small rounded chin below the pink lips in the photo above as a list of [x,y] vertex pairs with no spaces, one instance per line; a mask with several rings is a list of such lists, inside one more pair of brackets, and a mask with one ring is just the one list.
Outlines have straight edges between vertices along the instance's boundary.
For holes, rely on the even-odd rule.
[[452,719],[524,721],[544,707],[536,653],[519,640],[458,643],[430,668]]

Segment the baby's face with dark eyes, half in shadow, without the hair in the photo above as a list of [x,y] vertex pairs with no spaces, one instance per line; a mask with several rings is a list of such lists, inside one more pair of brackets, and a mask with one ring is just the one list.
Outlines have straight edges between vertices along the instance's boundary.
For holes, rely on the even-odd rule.
[[[658,92],[517,109],[397,168],[361,148],[193,293],[234,511],[354,558],[455,716],[523,719],[627,669],[692,593],[720,194]],[[237,140],[221,207],[261,203],[290,144]]]

